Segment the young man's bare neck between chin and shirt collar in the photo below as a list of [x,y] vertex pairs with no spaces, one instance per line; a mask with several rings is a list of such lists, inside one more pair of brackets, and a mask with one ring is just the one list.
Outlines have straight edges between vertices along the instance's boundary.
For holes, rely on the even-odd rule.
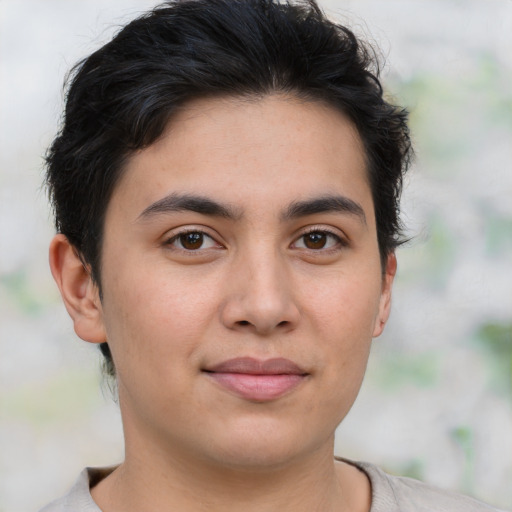
[[92,495],[104,512],[367,512],[366,477],[335,463],[332,453],[331,440],[280,466],[235,468],[127,444],[125,462]]

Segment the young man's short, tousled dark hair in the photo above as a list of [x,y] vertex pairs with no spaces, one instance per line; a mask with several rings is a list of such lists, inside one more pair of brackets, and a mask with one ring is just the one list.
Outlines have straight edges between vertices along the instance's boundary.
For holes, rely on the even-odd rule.
[[[314,0],[166,2],[72,70],[62,129],[47,154],[57,230],[100,286],[105,211],[127,157],[154,143],[192,99],[285,92],[324,101],[357,127],[384,261],[401,243],[411,148],[407,113],[385,101],[378,75],[372,49]],[[108,345],[101,348],[113,374]]]

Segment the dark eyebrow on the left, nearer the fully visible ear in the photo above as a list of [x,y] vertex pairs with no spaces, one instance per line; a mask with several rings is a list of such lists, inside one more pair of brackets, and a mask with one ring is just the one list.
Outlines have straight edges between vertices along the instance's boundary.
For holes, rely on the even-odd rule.
[[237,208],[226,204],[220,204],[208,197],[174,193],[150,204],[142,211],[138,220],[182,211],[196,212],[202,215],[223,217],[233,220],[238,219],[241,216],[241,212],[239,212]]

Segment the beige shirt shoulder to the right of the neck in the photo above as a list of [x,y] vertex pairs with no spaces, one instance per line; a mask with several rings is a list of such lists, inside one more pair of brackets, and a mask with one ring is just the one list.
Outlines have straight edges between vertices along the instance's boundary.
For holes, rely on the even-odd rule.
[[356,462],[354,465],[370,479],[370,512],[500,512],[467,496],[438,489],[412,478],[388,475],[373,464]]

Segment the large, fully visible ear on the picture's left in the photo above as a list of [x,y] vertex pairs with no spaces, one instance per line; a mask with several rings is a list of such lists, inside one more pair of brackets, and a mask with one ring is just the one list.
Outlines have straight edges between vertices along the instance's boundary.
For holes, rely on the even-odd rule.
[[50,268],[76,334],[90,343],[106,341],[98,287],[62,234],[55,235],[50,244]]

